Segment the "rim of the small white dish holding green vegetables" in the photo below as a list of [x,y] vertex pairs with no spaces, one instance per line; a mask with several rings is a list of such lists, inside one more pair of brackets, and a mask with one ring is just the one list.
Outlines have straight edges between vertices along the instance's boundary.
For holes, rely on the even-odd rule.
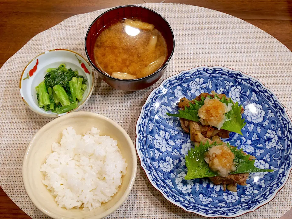
[[23,96],[23,94],[21,92],[21,90],[22,90],[21,82],[22,82],[22,78],[23,78],[24,71],[30,65],[30,63],[33,62],[37,57],[39,57],[39,56],[41,56],[43,54],[47,54],[48,52],[54,52],[54,51],[59,51],[59,50],[68,51],[68,52],[77,54],[78,56],[82,57],[86,61],[86,63],[91,67],[89,61],[87,61],[82,55],[80,55],[79,53],[77,53],[75,51],[68,50],[68,49],[52,49],[52,50],[48,50],[48,51],[45,51],[45,52],[42,52],[42,53],[38,54],[36,57],[34,57],[32,60],[30,60],[30,62],[25,66],[25,68],[23,69],[23,71],[21,73],[21,76],[20,76],[20,79],[19,79],[19,92],[20,92],[21,99],[26,104],[26,106],[28,106],[28,108],[30,108],[33,112],[35,112],[35,113],[37,113],[37,114],[39,114],[41,116],[54,117],[55,118],[55,117],[63,116],[65,114],[67,114],[67,113],[76,112],[76,111],[80,110],[87,103],[87,101],[89,100],[89,98],[90,98],[90,96],[92,95],[92,92],[93,92],[93,87],[94,87],[94,73],[93,73],[93,71],[91,71],[91,74],[92,74],[92,83],[91,83],[91,89],[90,89],[88,95],[86,96],[86,98],[82,101],[82,103],[77,108],[72,109],[69,112],[61,113],[61,114],[57,114],[57,113],[56,114],[47,114],[47,113],[43,113],[43,112],[37,111],[35,108],[33,108],[32,106],[30,106],[26,102],[26,100],[24,99],[24,96]]

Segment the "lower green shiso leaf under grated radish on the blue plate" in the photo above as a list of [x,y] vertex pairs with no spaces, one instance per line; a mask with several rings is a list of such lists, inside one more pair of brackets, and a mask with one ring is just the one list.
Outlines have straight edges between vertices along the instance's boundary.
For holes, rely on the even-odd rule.
[[[188,155],[186,155],[185,158],[186,167],[188,168],[187,175],[185,176],[186,180],[219,176],[217,172],[214,172],[209,168],[209,165],[204,160],[205,153],[208,151],[208,149],[216,145],[218,145],[216,142],[211,145],[209,144],[209,142],[207,142],[206,144],[203,144],[201,142],[199,147],[194,147],[189,150]],[[229,144],[227,144],[227,146],[230,147]],[[259,169],[255,167],[255,160],[249,160],[250,155],[243,154],[242,149],[236,150],[237,147],[230,147],[230,149],[235,155],[234,162],[236,163],[236,171],[231,172],[230,174],[273,171],[271,169]]]

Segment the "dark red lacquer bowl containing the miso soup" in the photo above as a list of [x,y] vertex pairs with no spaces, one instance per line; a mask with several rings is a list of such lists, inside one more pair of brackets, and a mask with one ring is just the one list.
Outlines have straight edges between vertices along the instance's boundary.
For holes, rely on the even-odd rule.
[[[95,63],[94,44],[97,36],[99,36],[99,34],[111,24],[126,18],[139,19],[143,22],[153,24],[155,28],[162,33],[162,36],[166,40],[168,50],[166,61],[157,71],[144,78],[132,80],[114,78],[101,71]],[[125,91],[141,90],[153,85],[165,72],[174,51],[174,36],[169,23],[155,11],[134,5],[120,6],[104,12],[92,22],[85,37],[85,51],[90,63],[97,70],[99,76],[110,86]]]

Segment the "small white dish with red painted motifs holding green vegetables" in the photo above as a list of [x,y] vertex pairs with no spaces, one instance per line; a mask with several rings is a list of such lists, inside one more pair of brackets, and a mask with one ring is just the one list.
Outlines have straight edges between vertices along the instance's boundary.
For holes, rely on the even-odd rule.
[[26,65],[20,77],[20,95],[23,102],[33,110],[33,112],[48,117],[58,117],[66,114],[57,114],[40,108],[37,103],[35,89],[35,87],[44,80],[48,68],[58,68],[62,63],[66,65],[66,68],[71,68],[73,71],[77,70],[78,74],[85,76],[85,79],[87,80],[87,89],[84,92],[82,102],[79,102],[78,107],[69,112],[80,110],[89,100],[94,85],[94,74],[89,62],[80,54],[71,50],[49,50],[33,58],[33,60]]

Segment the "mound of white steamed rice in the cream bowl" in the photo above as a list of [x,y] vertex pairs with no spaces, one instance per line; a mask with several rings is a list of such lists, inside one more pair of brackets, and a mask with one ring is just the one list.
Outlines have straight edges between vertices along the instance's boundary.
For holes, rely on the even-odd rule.
[[126,174],[127,163],[117,141],[99,136],[95,127],[83,137],[72,127],[62,134],[60,144],[52,144],[53,152],[40,169],[45,175],[43,184],[60,208],[92,210],[108,202]]

